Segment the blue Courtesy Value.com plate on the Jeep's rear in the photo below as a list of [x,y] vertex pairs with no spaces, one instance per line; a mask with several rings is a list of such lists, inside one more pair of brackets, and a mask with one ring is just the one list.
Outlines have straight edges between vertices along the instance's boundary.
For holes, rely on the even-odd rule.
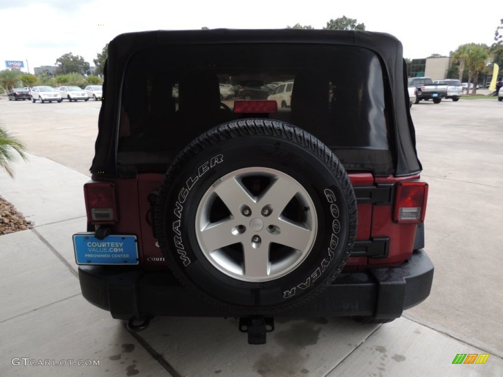
[[110,235],[102,240],[94,233],[73,235],[77,264],[138,264],[136,236]]

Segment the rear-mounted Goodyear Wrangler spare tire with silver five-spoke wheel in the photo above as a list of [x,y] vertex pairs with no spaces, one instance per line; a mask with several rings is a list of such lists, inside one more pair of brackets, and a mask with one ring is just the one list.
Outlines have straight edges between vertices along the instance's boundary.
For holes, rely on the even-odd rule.
[[217,126],[175,159],[156,233],[174,275],[247,314],[298,306],[329,285],[353,248],[357,208],[338,158],[287,123]]

